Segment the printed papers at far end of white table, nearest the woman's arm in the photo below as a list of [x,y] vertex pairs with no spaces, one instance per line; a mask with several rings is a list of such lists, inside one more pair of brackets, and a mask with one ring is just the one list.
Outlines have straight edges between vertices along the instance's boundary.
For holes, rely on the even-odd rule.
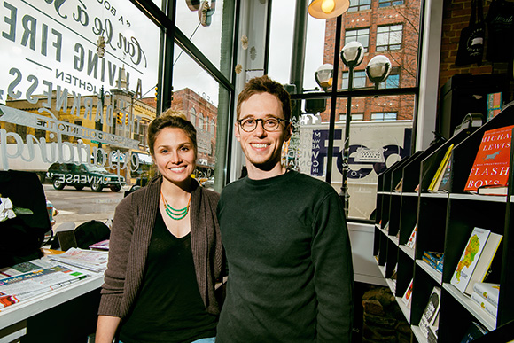
[[66,253],[50,255],[49,258],[59,263],[100,272],[107,269],[108,252],[70,248]]

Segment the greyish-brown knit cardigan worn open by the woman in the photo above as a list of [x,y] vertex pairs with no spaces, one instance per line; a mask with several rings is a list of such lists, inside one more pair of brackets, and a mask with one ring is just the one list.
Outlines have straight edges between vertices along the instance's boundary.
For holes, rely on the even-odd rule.
[[[191,249],[199,292],[207,312],[218,315],[219,302],[214,284],[221,279],[222,239],[216,207],[219,194],[192,180]],[[144,265],[159,210],[162,177],[155,177],[144,188],[122,199],[114,214],[109,244],[109,262],[98,315],[127,316],[144,277]]]

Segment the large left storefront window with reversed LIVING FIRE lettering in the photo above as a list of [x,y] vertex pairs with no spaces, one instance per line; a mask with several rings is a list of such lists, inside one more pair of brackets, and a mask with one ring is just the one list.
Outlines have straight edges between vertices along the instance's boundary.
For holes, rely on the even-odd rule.
[[[117,192],[151,176],[160,29],[124,0],[2,6],[0,168],[35,172],[47,191]],[[55,163],[78,168],[54,174]],[[84,174],[97,170],[112,175]]]

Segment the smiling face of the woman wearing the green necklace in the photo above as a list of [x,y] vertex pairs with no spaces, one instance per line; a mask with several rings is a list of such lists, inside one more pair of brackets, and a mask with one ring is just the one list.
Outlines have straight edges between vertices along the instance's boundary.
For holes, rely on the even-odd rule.
[[189,182],[196,168],[196,159],[194,144],[183,129],[164,128],[157,134],[153,160],[160,174],[169,182]]

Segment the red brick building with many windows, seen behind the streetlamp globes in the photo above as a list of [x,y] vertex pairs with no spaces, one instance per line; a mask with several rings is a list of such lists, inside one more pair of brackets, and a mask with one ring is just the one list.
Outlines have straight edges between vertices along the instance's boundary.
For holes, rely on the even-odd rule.
[[[342,16],[341,48],[358,41],[364,47],[364,58],[354,68],[353,89],[374,87],[365,68],[371,58],[385,55],[392,63],[391,72],[380,88],[409,88],[416,86],[419,37],[419,0],[352,1]],[[336,19],[327,19],[323,63],[333,63]],[[339,60],[338,90],[347,90],[348,68]],[[330,100],[328,101],[330,104]],[[327,104],[327,108],[330,108]],[[339,99],[337,121],[345,121],[347,100]],[[410,120],[414,113],[413,96],[353,97],[353,121]],[[329,121],[330,111],[322,113]]]

